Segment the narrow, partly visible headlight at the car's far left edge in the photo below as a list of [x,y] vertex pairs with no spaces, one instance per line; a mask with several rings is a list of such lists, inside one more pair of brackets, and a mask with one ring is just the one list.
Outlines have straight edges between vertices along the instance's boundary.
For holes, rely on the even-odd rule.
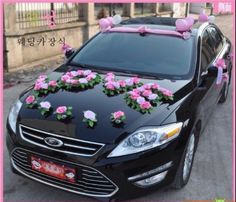
[[19,111],[21,109],[22,102],[20,100],[17,100],[11,107],[9,116],[8,116],[8,122],[10,124],[11,129],[14,133],[16,133],[16,121],[19,114]]

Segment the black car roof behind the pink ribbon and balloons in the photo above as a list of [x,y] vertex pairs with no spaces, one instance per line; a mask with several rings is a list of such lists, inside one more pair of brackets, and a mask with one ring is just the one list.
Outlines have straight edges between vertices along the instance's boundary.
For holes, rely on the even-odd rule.
[[[172,17],[138,17],[138,18],[130,18],[127,20],[123,20],[119,26],[125,27],[139,27],[139,26],[147,26],[150,29],[162,29],[162,30],[176,30],[175,22],[180,18],[172,18]],[[199,23],[197,20],[194,21],[192,26],[192,36],[195,36],[199,32],[199,28],[205,23]]]

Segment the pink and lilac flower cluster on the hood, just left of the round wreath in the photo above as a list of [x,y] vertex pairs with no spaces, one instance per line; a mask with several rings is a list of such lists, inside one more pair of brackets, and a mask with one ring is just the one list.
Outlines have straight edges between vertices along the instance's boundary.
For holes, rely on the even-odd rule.
[[34,94],[36,96],[46,95],[48,92],[55,92],[57,88],[57,81],[50,80],[46,75],[40,75],[34,84]]

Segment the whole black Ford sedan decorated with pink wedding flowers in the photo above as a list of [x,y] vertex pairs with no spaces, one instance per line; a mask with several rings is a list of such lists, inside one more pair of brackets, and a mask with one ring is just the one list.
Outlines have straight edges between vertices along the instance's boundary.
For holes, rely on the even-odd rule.
[[[118,27],[173,31],[175,21],[139,18]],[[232,69],[231,43],[214,23],[195,22],[190,34],[185,40],[143,31],[100,32],[72,51],[63,65],[37,80],[56,81],[54,89],[31,86],[10,110],[7,147],[13,172],[98,199],[185,186],[207,120],[227,98]],[[227,75],[220,84],[218,59],[224,59]],[[80,80],[77,88],[73,74],[90,75],[91,83]],[[112,91],[106,83],[112,79],[136,83]],[[143,85],[147,95],[155,86],[161,99],[139,108],[129,96],[143,93]],[[50,103],[50,109],[40,108],[39,101]],[[87,112],[93,118],[86,118]]]

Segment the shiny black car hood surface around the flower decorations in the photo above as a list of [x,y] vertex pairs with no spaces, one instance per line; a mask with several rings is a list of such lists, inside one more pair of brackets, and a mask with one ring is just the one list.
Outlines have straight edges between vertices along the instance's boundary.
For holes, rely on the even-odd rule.
[[[58,79],[62,72],[55,71],[50,78]],[[122,79],[124,76],[118,76]],[[79,92],[66,91],[63,89],[55,93],[49,93],[40,101],[49,101],[53,110],[58,106],[72,106],[73,118],[68,121],[58,121],[55,114],[44,117],[38,109],[28,109],[23,104],[19,113],[19,123],[46,132],[69,136],[81,140],[94,141],[106,144],[114,144],[142,126],[160,125],[161,122],[176,108],[177,103],[190,90],[190,80],[154,80],[142,78],[143,83],[157,82],[160,86],[174,93],[174,100],[162,102],[151,114],[142,114],[130,108],[124,94],[109,97],[103,92],[102,82],[92,89]],[[21,100],[31,94],[31,90],[25,93]],[[94,128],[88,128],[83,120],[83,111],[91,110],[97,114],[98,122]],[[112,112],[124,111],[126,120],[120,127],[114,126],[110,121]]]

